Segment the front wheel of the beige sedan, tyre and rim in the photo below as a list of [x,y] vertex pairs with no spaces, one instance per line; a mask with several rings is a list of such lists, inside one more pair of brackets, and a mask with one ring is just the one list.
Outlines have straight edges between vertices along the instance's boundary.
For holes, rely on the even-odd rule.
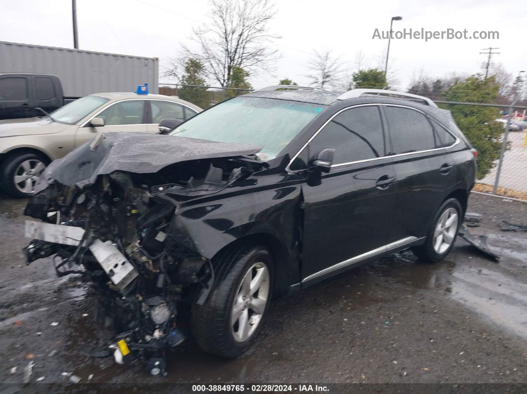
[[7,156],[0,167],[0,184],[11,197],[29,197],[46,168],[47,160],[34,153]]

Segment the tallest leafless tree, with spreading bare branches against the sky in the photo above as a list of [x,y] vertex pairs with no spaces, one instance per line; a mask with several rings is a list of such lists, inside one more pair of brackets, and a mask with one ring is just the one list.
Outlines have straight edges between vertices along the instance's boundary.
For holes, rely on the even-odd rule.
[[233,67],[249,74],[270,71],[280,57],[268,46],[280,38],[268,28],[275,15],[269,0],[210,0],[209,24],[193,29],[197,50],[183,46],[183,57],[198,59],[223,87],[230,84]]

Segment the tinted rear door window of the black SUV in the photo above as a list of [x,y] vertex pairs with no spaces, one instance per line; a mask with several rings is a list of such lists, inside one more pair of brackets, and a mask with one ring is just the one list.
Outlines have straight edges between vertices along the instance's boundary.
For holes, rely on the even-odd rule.
[[416,110],[385,107],[394,154],[435,148],[434,131],[428,119]]

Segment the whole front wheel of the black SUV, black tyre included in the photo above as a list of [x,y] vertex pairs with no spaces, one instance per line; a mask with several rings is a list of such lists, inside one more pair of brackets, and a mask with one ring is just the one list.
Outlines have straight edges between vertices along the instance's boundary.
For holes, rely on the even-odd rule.
[[214,288],[202,306],[192,306],[192,332],[204,351],[236,358],[251,347],[266,316],[272,259],[266,248],[243,243],[215,260]]

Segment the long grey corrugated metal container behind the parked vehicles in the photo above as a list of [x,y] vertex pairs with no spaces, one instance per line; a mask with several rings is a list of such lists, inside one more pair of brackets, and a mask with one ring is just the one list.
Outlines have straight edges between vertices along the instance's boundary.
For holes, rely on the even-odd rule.
[[0,74],[56,75],[65,97],[134,92],[148,83],[158,93],[159,59],[0,41]]

